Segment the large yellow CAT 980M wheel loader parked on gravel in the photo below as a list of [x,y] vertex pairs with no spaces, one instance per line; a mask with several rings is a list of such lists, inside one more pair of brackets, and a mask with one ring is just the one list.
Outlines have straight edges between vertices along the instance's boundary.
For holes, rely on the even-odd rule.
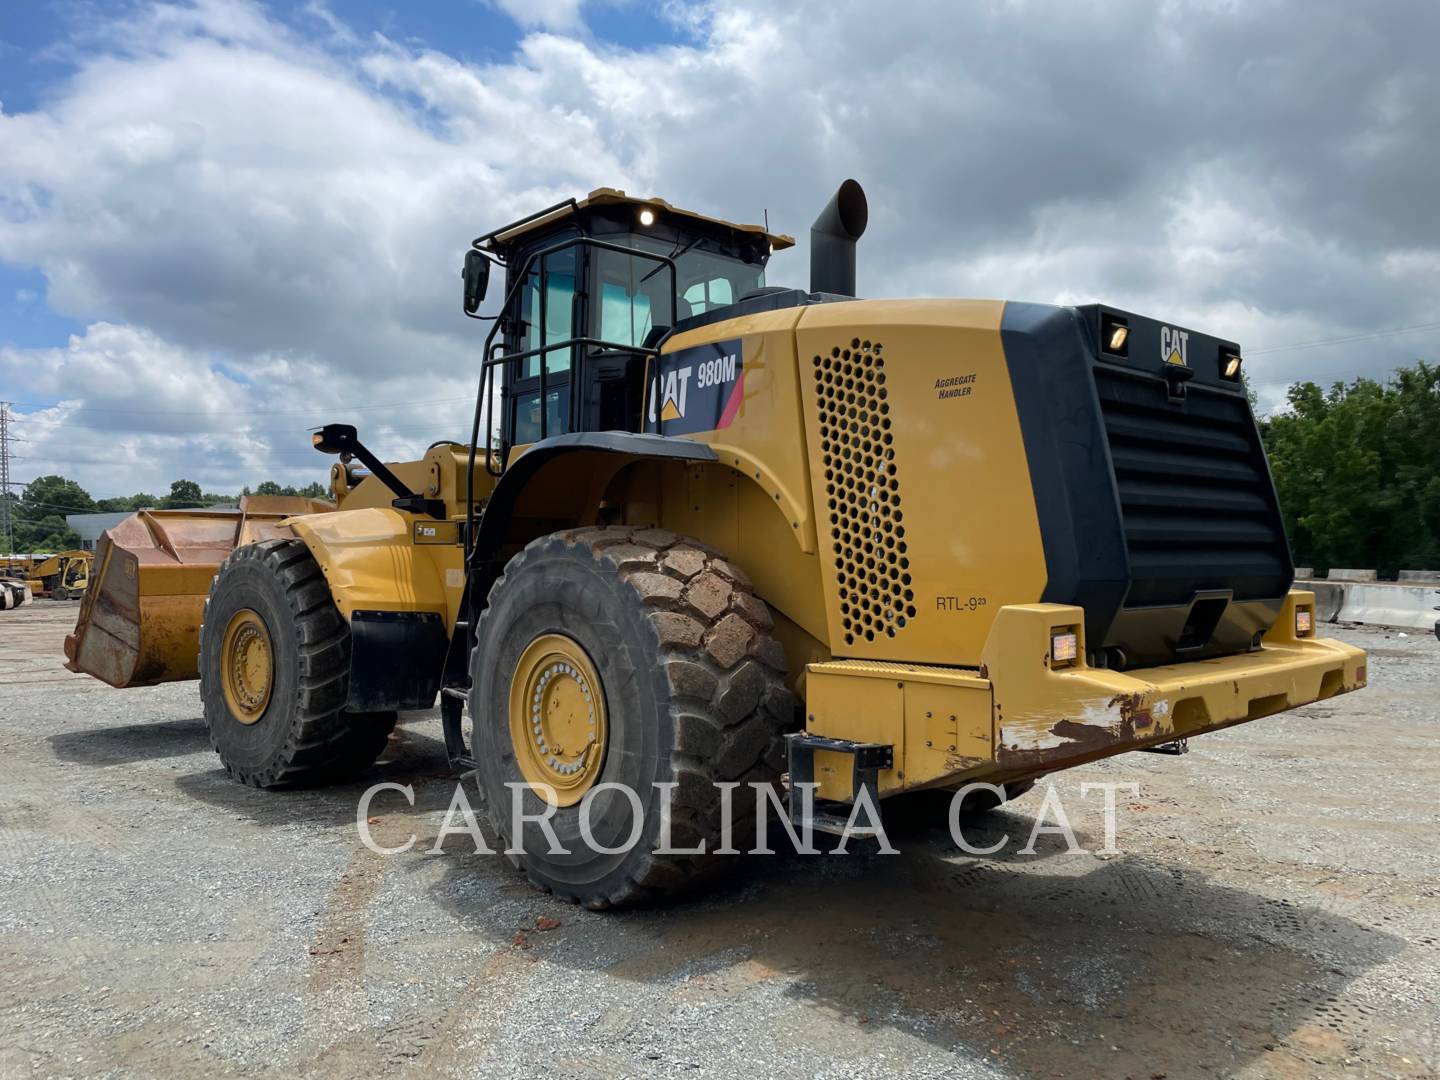
[[[789,236],[609,189],[478,238],[469,439],[386,464],[330,425],[334,510],[122,524],[72,667],[199,674],[259,786],[354,773],[439,701],[531,880],[593,907],[694,883],[730,809],[746,835],[734,785],[816,785],[838,829],[1364,685],[1290,588],[1236,343],[857,300],[865,220],[847,181],[808,289],[766,284]],[[564,854],[514,819],[552,808]]]

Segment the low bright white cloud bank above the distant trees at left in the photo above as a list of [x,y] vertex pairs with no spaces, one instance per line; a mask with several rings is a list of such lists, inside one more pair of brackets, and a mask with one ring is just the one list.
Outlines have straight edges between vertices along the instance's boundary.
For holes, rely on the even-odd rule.
[[353,422],[374,446],[408,456],[436,438],[465,438],[474,402],[464,374],[353,377],[269,354],[230,372],[213,354],[109,323],[63,347],[0,347],[0,384],[58,400],[20,412],[14,475],[79,477],[101,495],[164,494],[179,477],[226,492],[324,480],[330,461],[311,448],[311,428]]

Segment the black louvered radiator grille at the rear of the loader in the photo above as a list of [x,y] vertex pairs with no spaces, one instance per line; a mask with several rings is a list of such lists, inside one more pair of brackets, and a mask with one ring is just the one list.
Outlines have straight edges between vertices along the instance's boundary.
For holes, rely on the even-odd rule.
[[1130,560],[1126,608],[1282,596],[1292,567],[1274,485],[1246,399],[1158,374],[1094,366]]

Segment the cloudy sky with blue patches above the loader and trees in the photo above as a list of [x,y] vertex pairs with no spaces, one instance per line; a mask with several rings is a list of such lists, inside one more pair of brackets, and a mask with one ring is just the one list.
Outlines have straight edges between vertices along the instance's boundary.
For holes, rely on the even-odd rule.
[[1431,0],[12,0],[12,475],[235,491],[324,478],[325,420],[462,438],[469,238],[602,184],[769,210],[804,284],[854,176],[863,295],[1102,300],[1240,340],[1267,408],[1436,360],[1436,40]]

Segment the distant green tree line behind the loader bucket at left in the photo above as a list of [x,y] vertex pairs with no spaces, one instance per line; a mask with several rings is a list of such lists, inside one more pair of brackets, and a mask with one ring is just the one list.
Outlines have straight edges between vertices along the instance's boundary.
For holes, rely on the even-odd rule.
[[[330,491],[318,484],[289,487],[266,480],[253,491],[243,488],[239,495],[202,491],[193,480],[177,480],[170,485],[168,495],[154,495],[138,491],[134,495],[117,498],[91,498],[91,494],[65,477],[37,477],[24,485],[19,497],[3,492],[0,498],[10,501],[10,518],[14,528],[14,550],[63,552],[79,547],[81,537],[66,523],[66,514],[128,513],[135,510],[196,510],[215,505],[235,505],[240,495],[304,495],[307,498],[328,498]],[[0,546],[4,537],[0,536]]]

